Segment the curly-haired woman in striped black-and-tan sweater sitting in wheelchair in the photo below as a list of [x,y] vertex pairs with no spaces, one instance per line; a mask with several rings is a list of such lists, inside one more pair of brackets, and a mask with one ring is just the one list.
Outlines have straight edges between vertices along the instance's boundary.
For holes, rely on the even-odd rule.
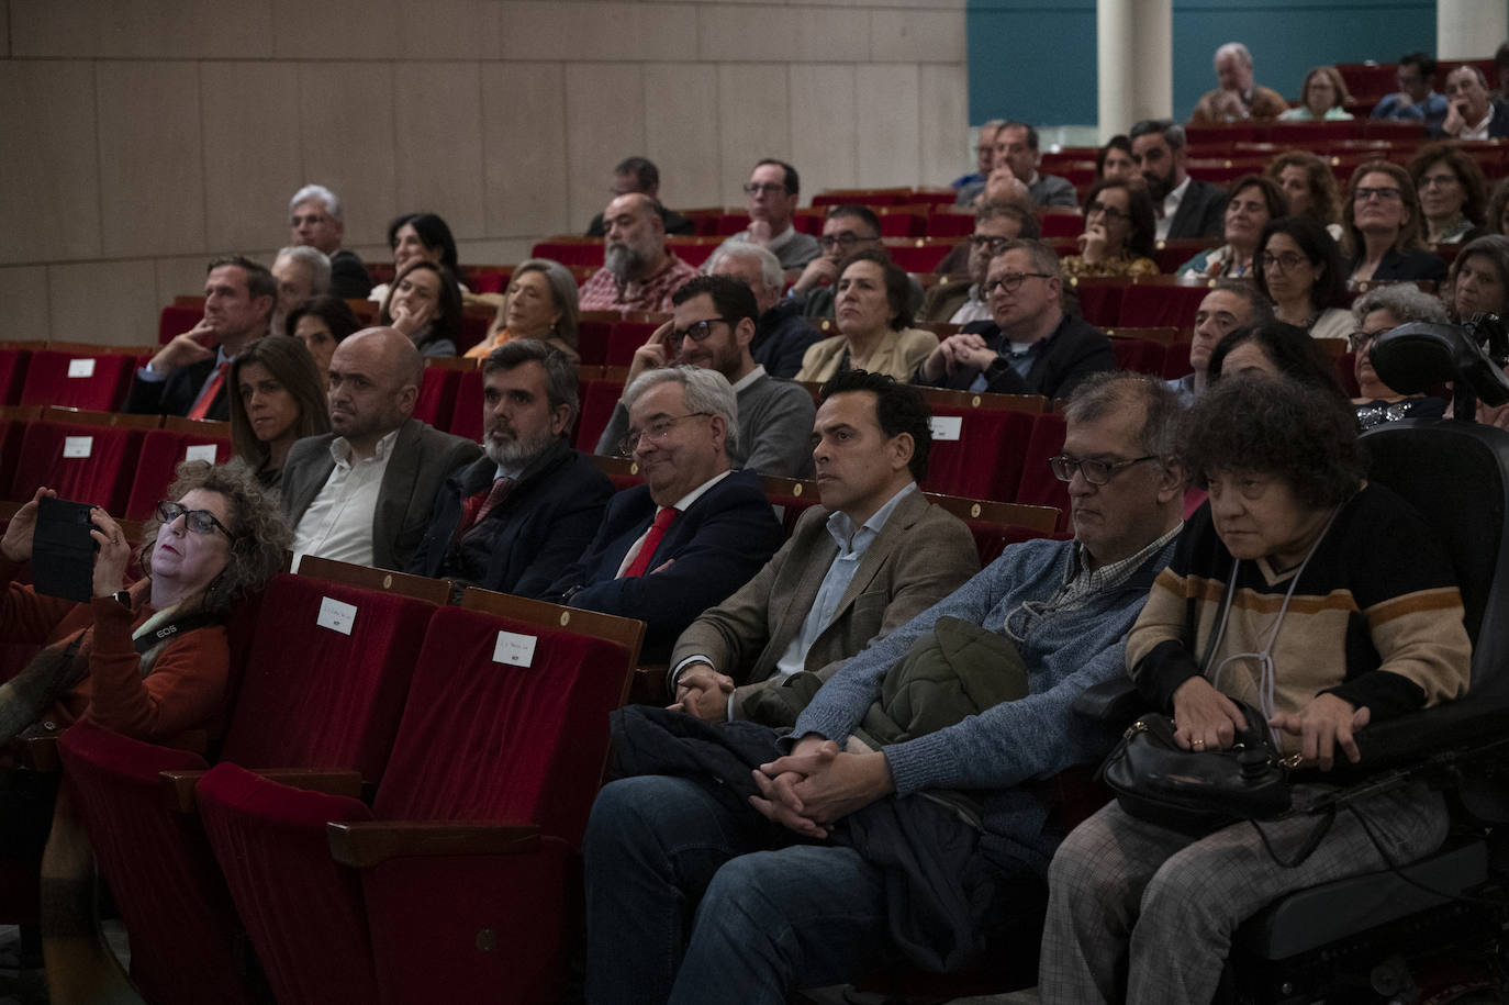
[[[1180,747],[1230,747],[1246,724],[1237,699],[1325,779],[1338,759],[1358,761],[1354,733],[1370,721],[1465,691],[1452,564],[1414,510],[1363,478],[1355,429],[1335,394],[1283,377],[1222,380],[1192,409],[1185,460],[1210,499],[1127,638],[1136,688],[1172,712]],[[1296,783],[1295,806],[1331,788]],[[1191,834],[1112,801],[1049,871],[1043,1000],[1209,1002],[1243,919],[1446,838],[1441,794],[1423,783],[1352,807],[1302,857],[1320,816]]]

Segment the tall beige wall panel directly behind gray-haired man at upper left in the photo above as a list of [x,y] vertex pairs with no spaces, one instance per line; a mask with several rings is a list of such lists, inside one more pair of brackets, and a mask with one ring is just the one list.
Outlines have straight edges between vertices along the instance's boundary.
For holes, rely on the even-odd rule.
[[[305,63],[299,66],[299,145],[305,183],[341,198],[346,243],[386,241],[397,214],[392,66]],[[278,207],[284,219],[287,199]]]

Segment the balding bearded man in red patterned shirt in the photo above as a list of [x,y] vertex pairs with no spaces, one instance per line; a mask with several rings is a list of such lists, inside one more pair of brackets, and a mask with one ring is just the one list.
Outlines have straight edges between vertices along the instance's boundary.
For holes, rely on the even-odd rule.
[[670,294],[697,270],[665,247],[659,204],[631,192],[608,204],[604,213],[604,266],[581,287],[582,311],[670,312]]

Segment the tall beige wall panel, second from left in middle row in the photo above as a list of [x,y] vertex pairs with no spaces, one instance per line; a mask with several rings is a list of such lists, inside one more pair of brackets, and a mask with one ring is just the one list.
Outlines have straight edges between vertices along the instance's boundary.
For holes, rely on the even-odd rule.
[[[202,250],[199,66],[103,62],[95,74],[103,254]],[[216,97],[204,113],[231,115],[238,107]]]

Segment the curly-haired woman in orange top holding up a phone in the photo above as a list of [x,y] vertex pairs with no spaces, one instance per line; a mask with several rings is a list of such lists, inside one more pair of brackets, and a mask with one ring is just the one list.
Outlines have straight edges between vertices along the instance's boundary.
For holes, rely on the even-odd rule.
[[[171,501],[157,504],[146,527],[146,575],[134,584],[125,581],[131,545],[121,525],[100,507],[89,510],[94,601],[74,604],[15,581],[32,560],[44,496],[57,493],[38,489],[0,540],[9,582],[0,631],[8,641],[45,646],[0,688],[0,733],[11,739],[44,714],[63,726],[88,714],[127,736],[207,751],[231,700],[225,620],[237,601],[278,575],[288,548],[278,502],[240,466],[184,462]],[[148,632],[178,631],[143,634],[148,622]],[[155,641],[142,649],[133,635]]]

